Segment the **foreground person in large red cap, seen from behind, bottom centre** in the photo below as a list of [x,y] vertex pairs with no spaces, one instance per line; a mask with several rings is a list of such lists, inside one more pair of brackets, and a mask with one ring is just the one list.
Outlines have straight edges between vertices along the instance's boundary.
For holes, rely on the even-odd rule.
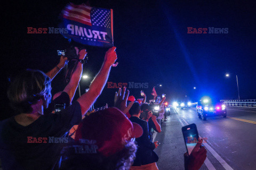
[[95,112],[78,125],[75,142],[63,148],[60,169],[129,169],[137,150],[134,138],[142,133],[115,107]]

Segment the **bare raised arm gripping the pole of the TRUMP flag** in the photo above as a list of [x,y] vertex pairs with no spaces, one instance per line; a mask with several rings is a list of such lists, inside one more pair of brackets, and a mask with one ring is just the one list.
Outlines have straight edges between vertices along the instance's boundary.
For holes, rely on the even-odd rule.
[[81,106],[82,115],[84,115],[89,110],[89,108],[100,96],[101,91],[105,87],[111,66],[115,63],[117,59],[115,49],[116,47],[111,47],[108,49],[105,54],[105,61],[103,62],[99,73],[92,81],[89,91],[77,99],[78,103]]

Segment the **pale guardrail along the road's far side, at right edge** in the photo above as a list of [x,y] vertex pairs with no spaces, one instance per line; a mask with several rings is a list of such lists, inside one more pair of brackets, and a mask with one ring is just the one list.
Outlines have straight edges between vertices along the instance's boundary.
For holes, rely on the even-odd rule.
[[220,100],[223,104],[232,107],[255,107],[256,108],[256,99],[249,100]]

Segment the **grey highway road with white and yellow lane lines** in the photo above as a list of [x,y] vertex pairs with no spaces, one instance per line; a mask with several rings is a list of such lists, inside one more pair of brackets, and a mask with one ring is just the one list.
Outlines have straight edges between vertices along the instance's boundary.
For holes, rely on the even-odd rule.
[[207,138],[207,158],[201,169],[256,169],[256,109],[227,108],[227,118],[197,117],[195,108],[173,109],[162,132],[154,134],[161,144],[155,149],[159,169],[184,169],[186,152],[181,127],[195,123],[199,136]]

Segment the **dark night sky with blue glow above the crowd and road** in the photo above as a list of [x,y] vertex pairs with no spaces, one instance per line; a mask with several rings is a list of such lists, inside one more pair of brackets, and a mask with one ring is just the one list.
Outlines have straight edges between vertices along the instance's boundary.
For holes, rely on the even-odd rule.
[[[27,34],[27,27],[58,27],[58,15],[69,1],[22,1],[3,6],[1,107],[7,108],[8,78],[31,68],[44,72],[59,61],[57,49],[67,47],[61,35]],[[81,3],[83,1],[72,1]],[[157,84],[167,101],[188,95],[237,99],[236,74],[242,99],[256,98],[255,2],[250,1],[89,1],[114,10],[114,45],[119,65],[108,81],[147,82],[148,89],[130,89],[148,98]],[[228,28],[227,34],[188,34],[187,27]],[[84,73],[91,80],[100,69],[106,48],[87,47]],[[230,78],[225,78],[225,73]],[[63,90],[64,70],[56,77],[53,94]],[[90,81],[81,80],[82,93]],[[196,90],[193,87],[196,87]],[[113,103],[115,89],[105,89],[96,106]]]

